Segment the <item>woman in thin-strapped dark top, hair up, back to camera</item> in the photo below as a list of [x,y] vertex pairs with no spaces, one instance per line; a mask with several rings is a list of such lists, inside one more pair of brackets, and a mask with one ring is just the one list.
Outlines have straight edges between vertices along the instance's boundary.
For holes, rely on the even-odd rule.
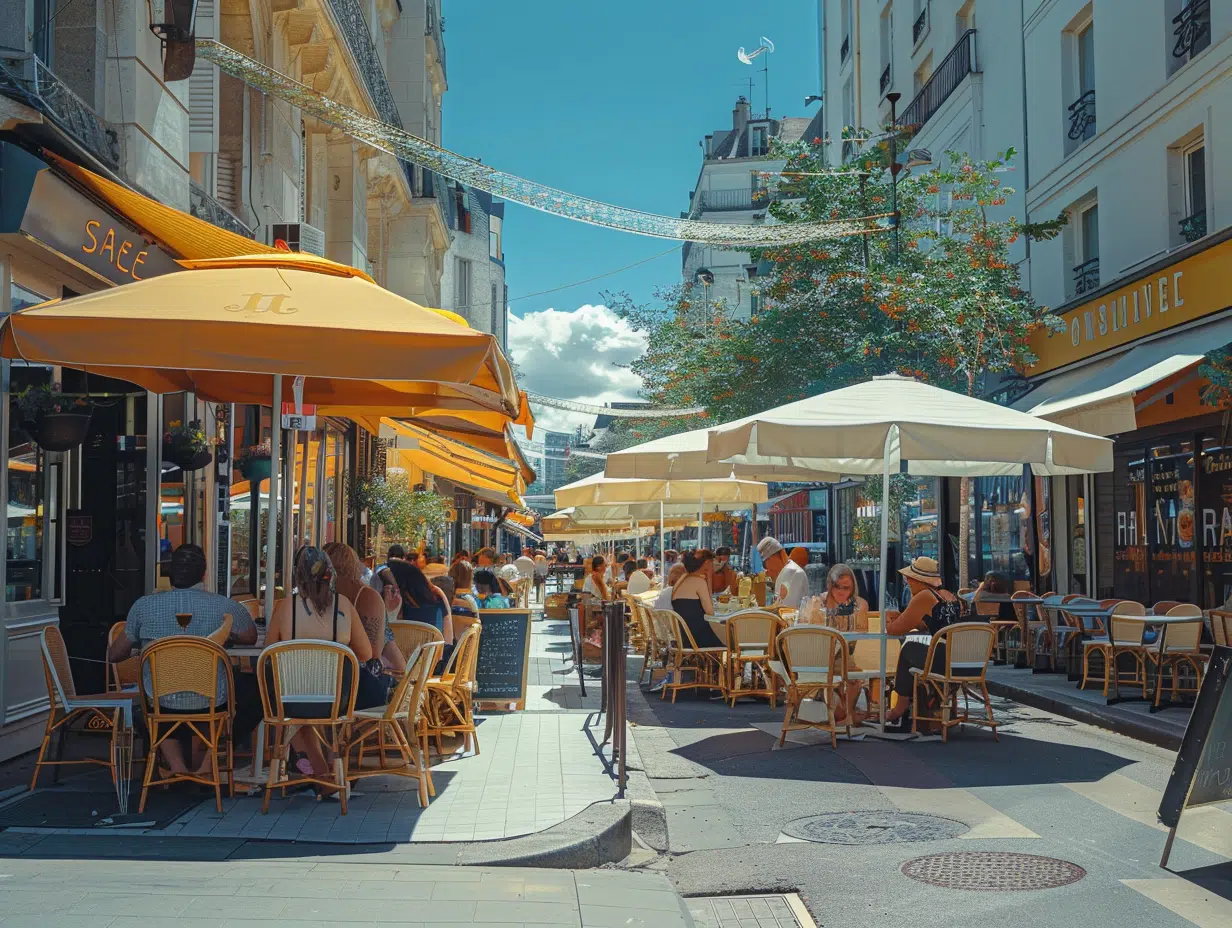
[[[372,659],[372,645],[368,642],[363,621],[351,600],[334,589],[334,566],[324,551],[317,547],[302,547],[294,560],[294,587],[290,596],[283,596],[274,606],[274,615],[265,630],[265,643],[297,638],[318,638],[336,641],[355,652],[359,659],[356,709],[373,709],[384,705],[386,688],[375,674],[363,667]],[[323,706],[308,704],[294,711],[303,717],[322,714]],[[328,711],[328,706],[324,707]],[[292,747],[307,755],[307,763],[313,775],[325,776],[329,765],[322,751],[320,738],[303,728],[291,739]],[[318,789],[318,794],[328,795],[330,790]]]

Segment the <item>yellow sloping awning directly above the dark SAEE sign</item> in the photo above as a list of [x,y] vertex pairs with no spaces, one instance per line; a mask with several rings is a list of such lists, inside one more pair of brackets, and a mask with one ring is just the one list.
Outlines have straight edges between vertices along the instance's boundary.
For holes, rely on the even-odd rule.
[[87,171],[73,161],[44,153],[57,169],[86,189],[97,200],[110,206],[121,216],[132,221],[137,228],[148,232],[160,245],[174,251],[180,258],[235,258],[261,253],[280,254],[278,249],[262,245],[245,235],[221,229],[213,223],[198,219],[171,206],[152,200],[148,196],[129,190]]

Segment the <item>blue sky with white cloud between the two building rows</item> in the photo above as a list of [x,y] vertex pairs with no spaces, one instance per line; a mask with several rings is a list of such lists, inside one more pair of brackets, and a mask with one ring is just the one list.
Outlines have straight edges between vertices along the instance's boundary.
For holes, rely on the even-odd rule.
[[[771,111],[816,112],[803,106],[819,91],[816,0],[445,0],[444,12],[445,145],[569,192],[669,216],[685,210],[699,142],[731,126],[750,74],[753,107],[765,106],[760,59],[749,68],[736,58],[760,36],[776,47]],[[525,318],[509,332],[524,386],[588,401],[636,397],[637,380],[620,365],[639,354],[638,339],[596,306],[600,291],[649,299],[679,280],[679,245],[510,205],[504,246],[511,308]],[[664,251],[593,283],[519,298]]]

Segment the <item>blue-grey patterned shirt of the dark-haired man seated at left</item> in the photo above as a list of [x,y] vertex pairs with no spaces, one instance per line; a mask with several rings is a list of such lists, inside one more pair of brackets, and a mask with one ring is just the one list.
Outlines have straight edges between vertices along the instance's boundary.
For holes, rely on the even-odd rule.
[[[192,615],[187,629],[181,629],[175,620],[177,613]],[[128,610],[124,636],[139,648],[172,635],[196,635],[203,638],[222,627],[223,615],[228,613],[232,617],[232,635],[244,633],[255,627],[246,606],[217,593],[208,593],[201,587],[150,593],[133,603],[133,608]],[[145,686],[149,688],[153,685],[149,668],[144,673]],[[221,702],[227,700],[227,670],[223,667],[218,668],[217,699]],[[208,705],[205,699],[192,693],[172,693],[159,701],[164,709],[186,711],[202,710]]]

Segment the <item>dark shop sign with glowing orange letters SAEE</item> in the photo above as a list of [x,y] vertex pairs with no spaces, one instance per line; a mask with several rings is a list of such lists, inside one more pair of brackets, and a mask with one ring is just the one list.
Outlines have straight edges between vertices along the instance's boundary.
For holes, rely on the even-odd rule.
[[21,230],[112,283],[132,283],[182,270],[163,249],[49,170],[34,177]]

